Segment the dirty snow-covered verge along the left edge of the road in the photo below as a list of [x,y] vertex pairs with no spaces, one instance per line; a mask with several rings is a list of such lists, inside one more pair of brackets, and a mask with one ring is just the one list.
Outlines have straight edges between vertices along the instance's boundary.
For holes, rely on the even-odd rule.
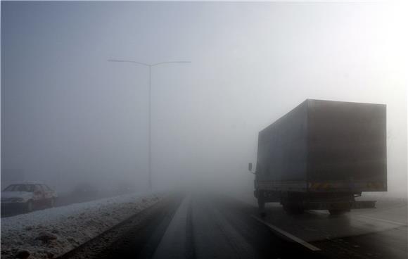
[[127,194],[1,219],[1,258],[55,258],[160,201]]

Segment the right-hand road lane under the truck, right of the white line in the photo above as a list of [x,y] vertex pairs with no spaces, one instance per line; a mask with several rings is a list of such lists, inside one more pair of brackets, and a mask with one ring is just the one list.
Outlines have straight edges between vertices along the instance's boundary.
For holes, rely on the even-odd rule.
[[277,204],[267,211],[264,221],[320,248],[329,258],[408,256],[406,201],[379,201],[375,209],[338,216],[324,210],[288,215]]

